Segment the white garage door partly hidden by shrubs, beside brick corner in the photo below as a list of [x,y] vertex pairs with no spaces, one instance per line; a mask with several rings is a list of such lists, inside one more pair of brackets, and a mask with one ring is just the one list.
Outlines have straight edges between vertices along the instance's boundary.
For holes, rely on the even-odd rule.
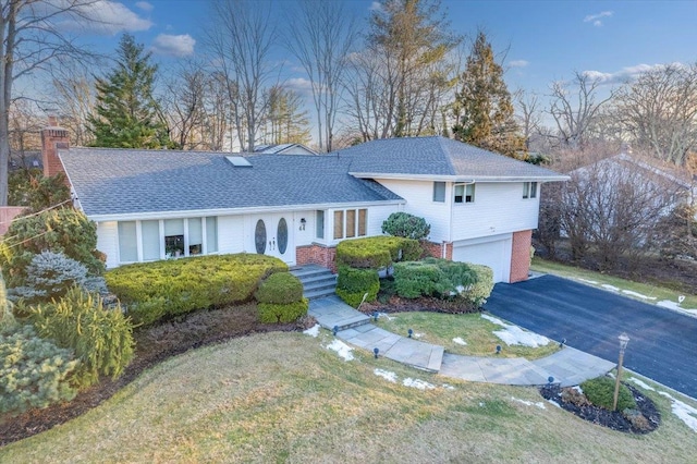
[[455,242],[453,261],[489,266],[493,270],[494,282],[509,282],[512,243],[511,234]]

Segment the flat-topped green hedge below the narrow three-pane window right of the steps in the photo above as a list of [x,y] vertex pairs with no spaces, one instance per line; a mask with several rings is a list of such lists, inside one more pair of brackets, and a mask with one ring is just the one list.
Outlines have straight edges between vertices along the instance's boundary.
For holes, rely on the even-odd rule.
[[398,261],[413,261],[421,256],[417,240],[401,236],[369,236],[344,240],[337,245],[337,265],[358,269],[381,269]]

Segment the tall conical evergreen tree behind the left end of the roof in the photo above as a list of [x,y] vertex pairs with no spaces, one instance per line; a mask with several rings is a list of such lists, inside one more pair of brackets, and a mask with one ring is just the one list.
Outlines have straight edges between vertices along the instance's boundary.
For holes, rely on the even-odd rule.
[[97,78],[97,115],[89,118],[94,146],[161,148],[172,146],[152,97],[157,65],[130,34],[119,42],[117,65]]

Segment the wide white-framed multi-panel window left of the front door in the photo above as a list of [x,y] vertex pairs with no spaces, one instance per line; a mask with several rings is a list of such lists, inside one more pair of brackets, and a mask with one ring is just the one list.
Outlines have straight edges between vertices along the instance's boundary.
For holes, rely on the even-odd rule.
[[218,218],[119,221],[119,262],[218,252]]

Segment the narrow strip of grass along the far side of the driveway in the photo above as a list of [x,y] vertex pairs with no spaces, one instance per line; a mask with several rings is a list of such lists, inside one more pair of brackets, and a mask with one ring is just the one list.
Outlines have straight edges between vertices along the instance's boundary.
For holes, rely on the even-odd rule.
[[[622,279],[614,276],[608,276],[601,272],[595,272],[587,269],[577,268],[574,266],[562,265],[560,262],[548,261],[541,258],[533,258],[533,265],[530,269],[537,272],[551,273],[554,276],[564,277],[567,279],[573,279],[575,281],[579,281],[579,279],[590,280],[598,282],[598,284],[590,284],[591,286],[601,288],[601,284],[608,284],[616,286],[621,290],[631,290],[633,292],[640,293],[646,296],[653,296],[656,300],[644,300],[637,296],[623,294],[625,296],[639,300],[646,303],[657,303],[661,300],[670,300],[672,302],[677,302],[678,295],[685,295],[685,301],[681,305],[684,308],[694,309],[697,308],[697,295],[681,293],[675,290],[667,289],[663,286],[651,285],[648,283],[634,282],[632,280]],[[582,283],[585,283],[580,281]]]

